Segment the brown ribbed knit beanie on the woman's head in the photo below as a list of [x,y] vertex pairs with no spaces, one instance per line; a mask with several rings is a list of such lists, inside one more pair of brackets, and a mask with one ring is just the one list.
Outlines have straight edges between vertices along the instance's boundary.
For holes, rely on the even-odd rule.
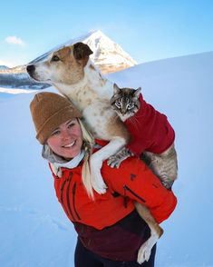
[[65,97],[49,92],[38,93],[30,104],[30,110],[36,130],[36,138],[42,144],[61,124],[82,114]]

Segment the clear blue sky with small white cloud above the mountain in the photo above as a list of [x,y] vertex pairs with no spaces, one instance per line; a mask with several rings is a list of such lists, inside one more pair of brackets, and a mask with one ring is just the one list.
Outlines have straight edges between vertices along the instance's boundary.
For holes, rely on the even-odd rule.
[[101,30],[138,62],[213,51],[213,1],[3,1],[0,64]]

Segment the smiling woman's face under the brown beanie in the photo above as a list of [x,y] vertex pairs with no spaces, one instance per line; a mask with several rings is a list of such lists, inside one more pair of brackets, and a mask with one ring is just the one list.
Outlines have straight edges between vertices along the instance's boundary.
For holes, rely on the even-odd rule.
[[47,139],[48,145],[63,158],[71,159],[81,152],[82,129],[77,119],[61,124]]

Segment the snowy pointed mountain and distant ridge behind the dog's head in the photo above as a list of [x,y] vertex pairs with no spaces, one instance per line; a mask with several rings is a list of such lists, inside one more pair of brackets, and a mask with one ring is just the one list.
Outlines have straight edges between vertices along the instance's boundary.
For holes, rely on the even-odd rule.
[[[76,42],[88,44],[92,48],[93,54],[91,58],[103,74],[116,72],[136,64],[131,56],[122,50],[119,44],[111,41],[111,39],[103,35],[101,31],[92,32],[72,39],[64,44],[60,44],[51,51],[35,58],[31,64],[44,60],[49,54],[53,53],[54,50],[64,45],[71,45]],[[26,73],[25,65],[16,66],[11,69],[0,68],[0,87],[44,89],[49,86],[49,84],[38,84],[31,80]]]

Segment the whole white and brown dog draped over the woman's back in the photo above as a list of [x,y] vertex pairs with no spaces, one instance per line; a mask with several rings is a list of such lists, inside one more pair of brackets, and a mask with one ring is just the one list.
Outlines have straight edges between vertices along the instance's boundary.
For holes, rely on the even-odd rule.
[[[77,43],[53,52],[45,62],[28,65],[28,74],[37,82],[52,84],[81,110],[88,129],[96,138],[110,141],[98,152],[92,153],[91,183],[97,193],[105,193],[101,175],[102,162],[119,152],[129,142],[130,134],[121,119],[111,109],[113,83],[94,67],[87,44]],[[89,192],[92,195],[92,192]],[[150,211],[136,204],[140,216],[150,226],[150,238],[139,251],[138,262],[148,261],[150,250],[162,233]]]

